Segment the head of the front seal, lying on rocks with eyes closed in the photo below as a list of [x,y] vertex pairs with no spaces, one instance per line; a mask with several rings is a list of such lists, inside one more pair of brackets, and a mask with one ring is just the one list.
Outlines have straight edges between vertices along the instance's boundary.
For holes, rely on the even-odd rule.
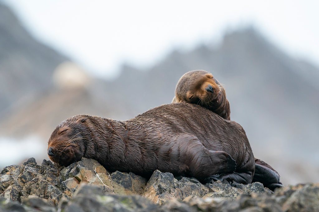
[[48,141],[48,156],[59,166],[69,166],[81,160],[86,149],[85,116],[74,116],[52,132]]

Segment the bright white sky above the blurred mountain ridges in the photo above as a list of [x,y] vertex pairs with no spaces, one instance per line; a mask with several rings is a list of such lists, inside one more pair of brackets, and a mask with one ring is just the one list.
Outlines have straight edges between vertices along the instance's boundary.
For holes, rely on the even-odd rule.
[[3,0],[32,35],[99,76],[145,67],[174,47],[218,41],[254,25],[292,56],[319,65],[319,1]]

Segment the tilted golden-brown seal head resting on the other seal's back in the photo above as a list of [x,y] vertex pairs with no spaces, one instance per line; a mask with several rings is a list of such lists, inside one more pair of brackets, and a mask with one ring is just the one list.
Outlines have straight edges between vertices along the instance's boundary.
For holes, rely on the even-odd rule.
[[172,103],[189,102],[198,104],[230,120],[230,106],[225,88],[209,72],[189,71],[177,82]]

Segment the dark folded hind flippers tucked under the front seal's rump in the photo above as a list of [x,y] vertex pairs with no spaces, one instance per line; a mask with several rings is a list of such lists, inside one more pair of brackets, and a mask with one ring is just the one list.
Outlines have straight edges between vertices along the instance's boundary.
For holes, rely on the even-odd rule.
[[212,182],[212,181],[217,181],[220,180],[221,182],[225,182],[225,180],[232,184],[233,182],[236,183],[242,183],[242,184],[248,184],[250,183],[251,180],[251,172],[243,172],[243,173],[222,173],[222,174],[214,174],[206,178],[204,181],[205,182]]

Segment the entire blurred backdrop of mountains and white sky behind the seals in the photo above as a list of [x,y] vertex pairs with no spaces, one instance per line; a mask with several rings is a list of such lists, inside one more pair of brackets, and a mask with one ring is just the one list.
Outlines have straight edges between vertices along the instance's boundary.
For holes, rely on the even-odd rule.
[[77,114],[118,120],[211,72],[256,158],[319,182],[318,1],[0,0],[0,170]]

